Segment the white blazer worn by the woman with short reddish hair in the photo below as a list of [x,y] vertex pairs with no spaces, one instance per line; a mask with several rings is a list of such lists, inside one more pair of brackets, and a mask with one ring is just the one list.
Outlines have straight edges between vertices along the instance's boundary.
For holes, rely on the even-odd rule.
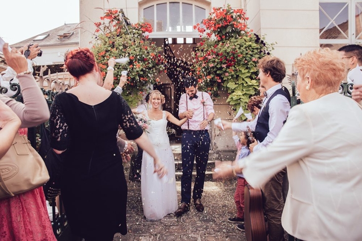
[[362,110],[339,93],[295,106],[277,138],[240,164],[260,187],[287,166],[282,225],[304,241],[362,240]]

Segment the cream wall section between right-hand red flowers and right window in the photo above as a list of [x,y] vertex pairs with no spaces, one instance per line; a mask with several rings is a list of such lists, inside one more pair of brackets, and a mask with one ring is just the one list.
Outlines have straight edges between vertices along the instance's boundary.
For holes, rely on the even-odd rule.
[[287,74],[293,60],[319,47],[318,0],[248,0],[249,26],[276,43],[272,54],[286,62]]

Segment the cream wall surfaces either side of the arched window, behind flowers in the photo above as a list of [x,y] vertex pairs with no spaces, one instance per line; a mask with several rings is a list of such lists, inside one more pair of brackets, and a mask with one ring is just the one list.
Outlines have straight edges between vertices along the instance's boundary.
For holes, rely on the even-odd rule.
[[[157,0],[158,1],[158,0]],[[156,1],[156,2],[157,2]],[[80,47],[91,47],[94,22],[99,22],[103,9],[122,8],[132,23],[141,21],[141,7],[155,0],[80,0]],[[164,2],[159,0],[159,2]],[[200,4],[222,7],[225,0],[195,0]],[[266,34],[268,43],[276,43],[273,55],[287,64],[291,71],[293,60],[306,51],[319,47],[319,1],[318,0],[228,0],[234,8],[246,4],[248,25],[255,33]],[[139,7],[141,6],[141,7]]]

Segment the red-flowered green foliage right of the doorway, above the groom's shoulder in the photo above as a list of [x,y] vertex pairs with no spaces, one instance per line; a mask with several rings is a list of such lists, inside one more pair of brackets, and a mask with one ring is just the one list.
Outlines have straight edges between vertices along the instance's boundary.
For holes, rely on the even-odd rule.
[[194,53],[193,68],[201,90],[219,97],[226,90],[226,100],[238,110],[246,110],[249,98],[258,89],[258,60],[270,54],[271,44],[252,33],[246,25],[243,9],[214,8],[203,20],[204,27],[194,26],[206,33]]

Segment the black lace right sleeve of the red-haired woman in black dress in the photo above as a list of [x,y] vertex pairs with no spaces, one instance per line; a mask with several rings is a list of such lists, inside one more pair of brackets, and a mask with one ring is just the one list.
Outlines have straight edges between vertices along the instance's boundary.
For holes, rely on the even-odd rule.
[[143,134],[141,126],[136,121],[135,116],[133,115],[131,108],[127,102],[119,95],[120,98],[120,123],[119,125],[123,129],[124,133],[127,136],[128,140],[134,140],[139,138]]

